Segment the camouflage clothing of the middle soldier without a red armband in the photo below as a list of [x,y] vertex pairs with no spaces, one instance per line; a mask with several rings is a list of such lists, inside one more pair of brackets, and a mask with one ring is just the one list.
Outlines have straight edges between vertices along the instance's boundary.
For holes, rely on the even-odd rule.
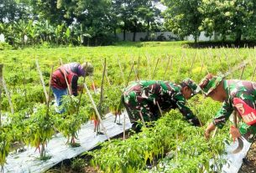
[[[180,92],[181,86],[168,81],[142,80],[133,82],[125,89],[124,103],[135,112],[141,112],[144,119],[163,111],[178,108],[186,120],[194,118],[191,109],[185,106],[185,98]],[[133,118],[138,120],[136,113]],[[137,115],[138,116],[138,115]]]

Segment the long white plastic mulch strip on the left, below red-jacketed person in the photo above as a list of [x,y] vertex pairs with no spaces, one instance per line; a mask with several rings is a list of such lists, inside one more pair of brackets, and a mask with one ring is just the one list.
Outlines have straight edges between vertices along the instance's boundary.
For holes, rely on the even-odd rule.
[[[120,116],[120,122],[123,124],[123,114]],[[115,116],[112,114],[107,114],[106,119],[103,120],[103,125],[107,130],[108,137],[113,137],[123,133],[123,125],[117,125],[114,123]],[[117,119],[118,122],[119,119]],[[125,129],[131,128],[131,123],[128,115],[125,115]],[[8,155],[7,164],[4,165],[4,172],[15,172],[15,173],[25,173],[25,172],[43,172],[50,169],[50,167],[60,163],[62,160],[71,159],[86,150],[91,150],[98,143],[107,140],[106,135],[96,135],[93,132],[94,125],[88,122],[86,125],[81,126],[81,130],[78,133],[80,147],[72,148],[69,145],[65,145],[66,139],[61,134],[57,134],[53,139],[50,140],[46,147],[47,155],[50,155],[50,160],[39,160],[39,151],[34,151],[34,148],[25,147],[26,151],[18,154]],[[102,129],[102,128],[101,128]]]

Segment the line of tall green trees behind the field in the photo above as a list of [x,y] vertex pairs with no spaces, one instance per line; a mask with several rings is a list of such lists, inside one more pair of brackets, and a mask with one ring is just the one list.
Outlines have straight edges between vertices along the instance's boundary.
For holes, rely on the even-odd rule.
[[[164,4],[165,11],[159,9]],[[256,38],[253,0],[0,0],[0,33],[13,46],[106,45],[117,33],[171,31],[195,41]]]

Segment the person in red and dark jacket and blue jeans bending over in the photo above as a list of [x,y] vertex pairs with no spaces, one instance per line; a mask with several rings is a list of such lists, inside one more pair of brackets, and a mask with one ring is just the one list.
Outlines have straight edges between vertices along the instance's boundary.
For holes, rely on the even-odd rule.
[[[63,64],[52,74],[50,81],[51,89],[55,95],[56,105],[61,105],[63,95],[70,94],[77,95],[77,81],[79,77],[93,74],[93,66],[90,63],[78,64],[70,63]],[[63,113],[64,109],[57,110],[58,113]]]

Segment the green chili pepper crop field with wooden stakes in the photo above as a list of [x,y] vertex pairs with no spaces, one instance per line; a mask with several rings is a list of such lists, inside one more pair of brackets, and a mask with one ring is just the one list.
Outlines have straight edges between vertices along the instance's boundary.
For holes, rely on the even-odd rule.
[[[105,59],[101,101],[101,94],[96,90],[101,89]],[[227,79],[253,80],[255,59],[255,48],[190,48],[185,42],[0,51],[5,88],[1,97],[0,165],[6,163],[9,152],[17,150],[14,145],[17,143],[33,146],[39,150],[39,159],[47,160],[50,155],[44,148],[55,131],[66,137],[67,145],[76,147],[81,125],[89,120],[98,122],[85,89],[81,94],[83,79],[79,79],[79,95],[63,100],[65,113],[55,113],[49,81],[52,68],[57,69],[60,62],[88,61],[94,65],[94,76],[86,78],[85,83],[95,103],[101,103],[103,117],[108,112],[123,111],[120,96],[130,81],[155,79],[179,84],[189,77],[199,83],[207,73],[223,74]],[[189,125],[177,110],[171,110],[142,132],[126,140],[104,142],[101,149],[87,152],[92,156],[91,165],[103,172],[220,172],[225,163],[220,155],[224,154],[225,143],[231,142],[230,123],[210,140],[205,140],[203,134],[221,104],[201,94],[187,104],[201,120],[202,127]]]

